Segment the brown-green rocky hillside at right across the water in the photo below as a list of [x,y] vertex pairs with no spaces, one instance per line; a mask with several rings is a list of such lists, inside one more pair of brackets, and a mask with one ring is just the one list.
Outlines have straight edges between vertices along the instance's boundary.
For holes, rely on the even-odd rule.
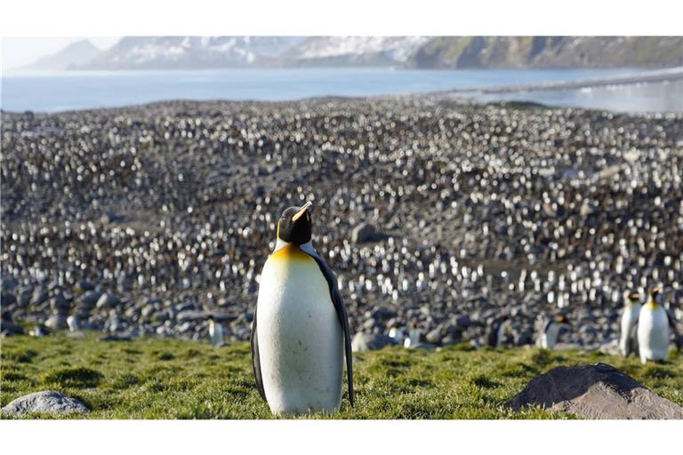
[[683,65],[683,36],[440,36],[410,68],[607,68]]

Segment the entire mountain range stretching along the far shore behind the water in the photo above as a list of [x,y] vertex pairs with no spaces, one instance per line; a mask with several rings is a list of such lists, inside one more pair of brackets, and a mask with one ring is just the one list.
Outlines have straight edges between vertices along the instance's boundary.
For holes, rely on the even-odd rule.
[[610,68],[683,65],[683,36],[127,36],[25,69]]

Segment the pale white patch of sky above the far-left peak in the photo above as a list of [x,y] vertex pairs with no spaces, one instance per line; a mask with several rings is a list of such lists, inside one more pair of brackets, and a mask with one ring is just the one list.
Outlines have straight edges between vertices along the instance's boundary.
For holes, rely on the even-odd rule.
[[120,36],[60,36],[60,37],[5,37],[3,36],[2,68],[14,69],[29,65],[45,55],[58,52],[75,41],[89,39],[100,49],[116,44]]

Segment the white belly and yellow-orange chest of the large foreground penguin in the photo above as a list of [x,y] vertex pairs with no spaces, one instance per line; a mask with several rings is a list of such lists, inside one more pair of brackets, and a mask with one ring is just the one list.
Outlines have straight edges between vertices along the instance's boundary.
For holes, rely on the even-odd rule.
[[315,259],[293,246],[271,254],[257,308],[261,377],[270,411],[339,410],[342,326]]

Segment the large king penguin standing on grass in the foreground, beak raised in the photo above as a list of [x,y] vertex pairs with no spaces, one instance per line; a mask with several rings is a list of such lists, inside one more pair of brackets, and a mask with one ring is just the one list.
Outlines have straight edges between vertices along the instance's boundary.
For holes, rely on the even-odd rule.
[[311,243],[311,205],[289,207],[277,221],[253,313],[253,374],[273,414],[339,411],[344,357],[354,404],[349,320],[337,279]]

